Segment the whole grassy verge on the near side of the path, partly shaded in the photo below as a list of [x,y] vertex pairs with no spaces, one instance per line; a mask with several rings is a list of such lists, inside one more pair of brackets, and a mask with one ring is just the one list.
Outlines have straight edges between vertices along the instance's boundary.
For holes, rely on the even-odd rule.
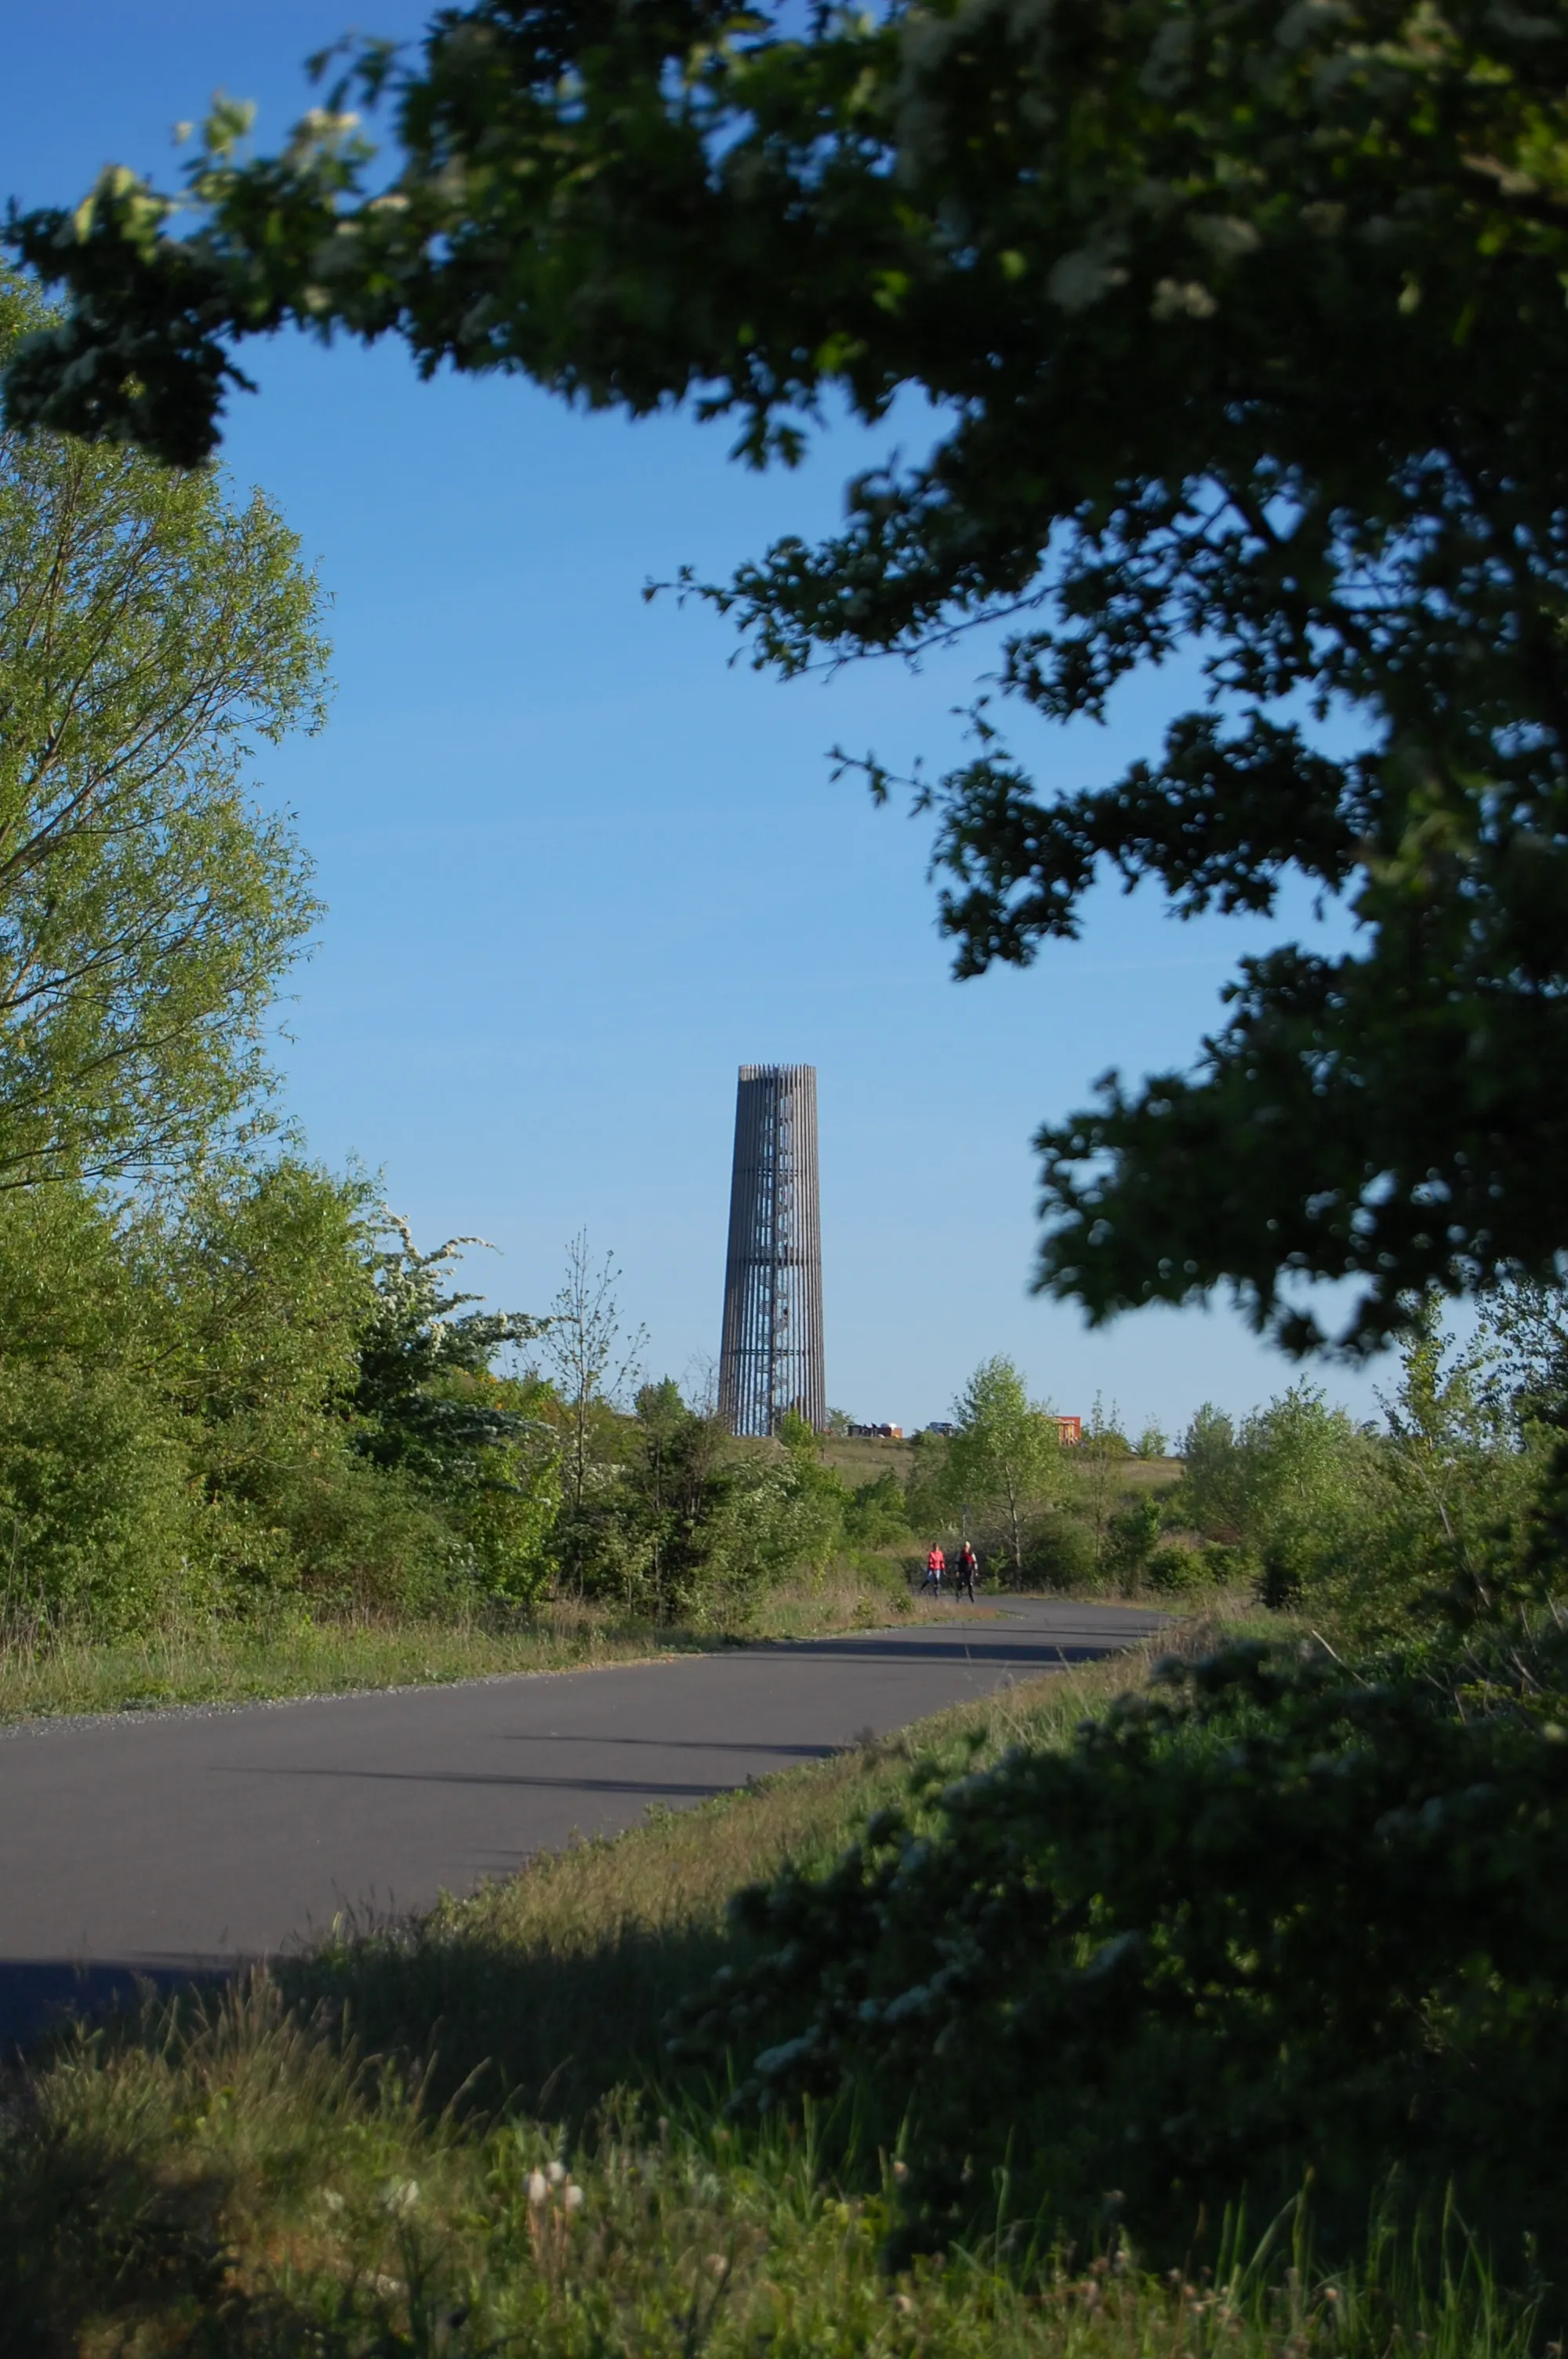
[[1462,2250],[1427,2291],[1377,2243],[1316,2281],[1290,2225],[1193,2281],[1115,2239],[889,2274],[894,2158],[835,2182],[809,2121],[740,2133],[660,2092],[663,2012],[736,1885],[832,1857],[915,1757],[1059,1743],[1144,1668],[1016,1687],[19,2066],[0,2352],[1523,2359],[1528,2317]]

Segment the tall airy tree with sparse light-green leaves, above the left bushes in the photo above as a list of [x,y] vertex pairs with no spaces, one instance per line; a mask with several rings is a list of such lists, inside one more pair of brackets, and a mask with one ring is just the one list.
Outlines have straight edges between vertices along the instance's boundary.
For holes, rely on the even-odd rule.
[[[0,276],[0,351],[38,318]],[[0,1187],[165,1168],[264,1078],[316,915],[243,781],[321,715],[297,547],[259,493],[0,436]]]

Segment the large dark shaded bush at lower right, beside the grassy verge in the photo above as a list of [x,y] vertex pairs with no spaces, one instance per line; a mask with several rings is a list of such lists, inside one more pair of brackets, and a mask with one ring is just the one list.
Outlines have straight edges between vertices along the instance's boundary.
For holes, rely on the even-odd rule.
[[[854,2090],[920,2241],[1106,2189],[1146,2248],[1313,2177],[1330,2241],[1389,2173],[1502,2265],[1568,2260],[1568,1713],[1240,1647],[1066,1753],[875,1819],[736,1906],[762,1956],[689,2045],[738,2104]],[[759,2041],[766,2045],[759,2048]]]

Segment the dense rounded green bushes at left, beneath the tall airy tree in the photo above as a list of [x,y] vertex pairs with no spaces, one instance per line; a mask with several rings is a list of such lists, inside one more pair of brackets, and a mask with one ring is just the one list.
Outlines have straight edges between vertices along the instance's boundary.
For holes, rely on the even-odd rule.
[[526,1321],[450,1319],[382,1222],[295,1156],[0,1196],[2,1640],[538,1595],[552,1437],[488,1373]]

